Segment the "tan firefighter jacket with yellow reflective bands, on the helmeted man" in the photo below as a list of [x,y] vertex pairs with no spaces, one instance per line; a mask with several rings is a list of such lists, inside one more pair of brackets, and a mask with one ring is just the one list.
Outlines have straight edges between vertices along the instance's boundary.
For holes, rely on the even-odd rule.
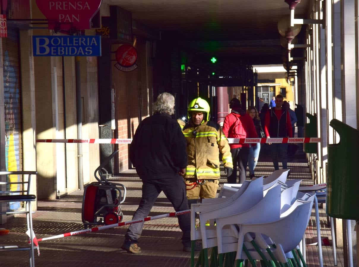
[[185,179],[219,179],[219,153],[222,153],[224,167],[233,168],[228,140],[218,123],[206,121],[193,126],[188,122],[183,127],[183,134],[188,158]]

